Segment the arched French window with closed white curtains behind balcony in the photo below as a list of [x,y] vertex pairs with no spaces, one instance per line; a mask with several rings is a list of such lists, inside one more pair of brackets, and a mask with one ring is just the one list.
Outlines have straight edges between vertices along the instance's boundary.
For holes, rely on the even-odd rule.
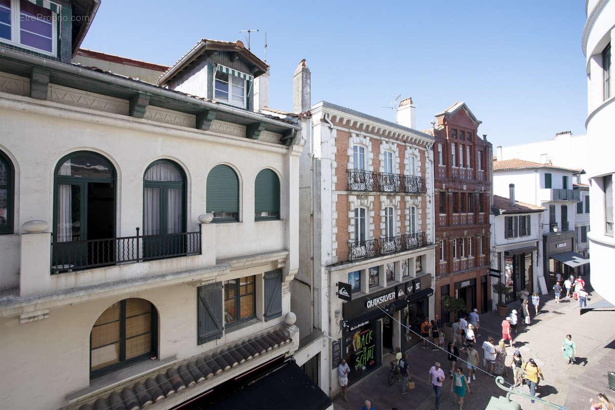
[[186,232],[184,171],[175,162],[157,160],[143,179],[143,235]]

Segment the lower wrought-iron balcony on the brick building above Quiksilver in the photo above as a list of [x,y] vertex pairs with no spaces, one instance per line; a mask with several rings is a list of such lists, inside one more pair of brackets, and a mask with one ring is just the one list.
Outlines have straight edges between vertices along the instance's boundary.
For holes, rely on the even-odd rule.
[[399,236],[348,242],[348,261],[376,258],[387,254],[409,251],[427,245],[424,232]]

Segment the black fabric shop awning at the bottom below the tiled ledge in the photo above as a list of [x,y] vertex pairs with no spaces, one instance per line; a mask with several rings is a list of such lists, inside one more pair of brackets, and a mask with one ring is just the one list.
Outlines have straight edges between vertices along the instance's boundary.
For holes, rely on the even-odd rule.
[[243,388],[210,409],[327,410],[333,402],[294,361]]

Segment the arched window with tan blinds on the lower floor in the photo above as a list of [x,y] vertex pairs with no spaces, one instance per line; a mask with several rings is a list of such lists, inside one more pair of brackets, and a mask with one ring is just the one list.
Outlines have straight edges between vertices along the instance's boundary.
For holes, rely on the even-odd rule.
[[145,299],[111,305],[90,332],[90,374],[98,376],[156,355],[156,325],[156,308]]

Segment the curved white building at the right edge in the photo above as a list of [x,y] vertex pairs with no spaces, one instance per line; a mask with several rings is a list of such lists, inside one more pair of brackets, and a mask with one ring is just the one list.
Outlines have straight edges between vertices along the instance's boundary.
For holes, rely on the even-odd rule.
[[615,118],[615,86],[611,68],[611,46],[615,37],[615,1],[586,2],[587,22],[582,47],[587,57],[587,106],[585,120],[590,142],[587,175],[590,182],[590,254],[592,286],[603,298],[615,303],[613,258],[613,118]]

